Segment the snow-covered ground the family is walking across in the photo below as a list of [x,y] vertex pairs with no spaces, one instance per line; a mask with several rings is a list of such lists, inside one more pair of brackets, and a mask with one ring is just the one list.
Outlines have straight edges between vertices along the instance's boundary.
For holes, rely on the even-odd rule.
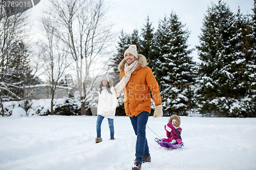
[[[129,117],[115,117],[115,138],[102,122],[101,143],[95,143],[96,116],[0,117],[0,169],[131,169],[136,136]],[[169,117],[148,119],[161,138]],[[256,118],[181,116],[181,149],[158,145],[146,136],[151,163],[142,169],[256,169]]]

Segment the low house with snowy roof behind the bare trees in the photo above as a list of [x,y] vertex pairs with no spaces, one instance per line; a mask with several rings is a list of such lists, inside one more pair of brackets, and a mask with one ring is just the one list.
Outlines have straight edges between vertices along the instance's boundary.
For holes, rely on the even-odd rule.
[[[71,87],[57,86],[55,89],[54,99],[69,98]],[[25,87],[25,94],[32,94],[29,100],[51,99],[51,84],[37,84]]]

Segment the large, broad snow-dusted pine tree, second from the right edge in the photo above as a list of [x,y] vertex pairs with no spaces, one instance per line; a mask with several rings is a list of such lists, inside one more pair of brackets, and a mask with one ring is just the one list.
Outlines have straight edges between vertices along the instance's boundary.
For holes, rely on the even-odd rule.
[[243,82],[246,59],[239,47],[243,26],[238,18],[222,1],[208,7],[197,46],[202,63],[196,94],[202,114],[235,116],[232,109],[246,93]]

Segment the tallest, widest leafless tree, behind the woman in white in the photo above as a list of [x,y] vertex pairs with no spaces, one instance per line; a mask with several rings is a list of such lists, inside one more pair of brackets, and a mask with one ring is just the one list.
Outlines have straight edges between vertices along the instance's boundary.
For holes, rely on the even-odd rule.
[[111,32],[113,24],[109,22],[107,16],[110,6],[105,0],[50,0],[50,2],[49,15],[57,19],[56,35],[67,45],[67,51],[75,63],[81,115],[84,115],[88,95],[95,85],[97,76],[105,69],[104,65],[95,64],[98,64],[100,57],[108,56],[106,47],[114,38]]

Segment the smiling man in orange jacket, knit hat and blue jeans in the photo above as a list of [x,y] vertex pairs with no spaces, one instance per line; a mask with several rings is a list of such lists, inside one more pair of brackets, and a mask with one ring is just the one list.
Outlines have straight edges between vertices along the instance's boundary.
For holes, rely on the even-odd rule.
[[131,45],[124,52],[124,59],[118,65],[120,82],[111,91],[116,97],[121,90],[124,93],[124,109],[130,116],[134,132],[137,135],[136,159],[134,170],[141,169],[141,164],[150,162],[151,156],[146,140],[146,123],[151,112],[151,95],[156,105],[153,117],[163,115],[159,85],[146,58],[137,53],[136,45]]

